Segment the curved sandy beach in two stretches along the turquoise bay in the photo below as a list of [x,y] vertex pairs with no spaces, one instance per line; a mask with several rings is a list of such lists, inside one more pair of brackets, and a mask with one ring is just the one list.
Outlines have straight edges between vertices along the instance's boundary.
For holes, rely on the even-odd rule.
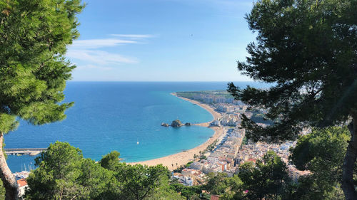
[[[178,97],[175,93],[171,93],[171,95],[175,95],[176,97]],[[181,98],[181,97],[178,97],[178,98]],[[181,99],[187,100],[187,101],[192,102],[196,105],[199,105],[199,106],[203,107],[204,109],[206,109],[208,112],[211,112],[214,120],[218,120],[218,118],[221,117],[221,114],[219,114],[218,112],[213,110],[213,108],[210,107],[209,105],[203,104],[196,100],[190,100],[188,98],[181,98]],[[211,122],[205,122],[205,123],[196,124],[196,125],[203,126],[203,127],[209,127],[210,123]],[[186,163],[188,163],[190,161],[193,161],[194,154],[199,155],[200,151],[203,152],[203,150],[206,149],[209,144],[214,142],[214,140],[218,140],[218,138],[221,137],[221,135],[224,132],[222,127],[210,127],[210,128],[214,130],[214,135],[212,137],[210,137],[206,142],[199,145],[198,147],[195,147],[193,149],[188,149],[185,152],[171,154],[169,156],[161,157],[158,159],[151,159],[151,160],[147,160],[147,161],[143,161],[143,162],[131,162],[129,164],[146,164],[149,166],[163,164],[164,166],[168,167],[170,170],[176,169],[177,168],[176,164],[179,167],[181,165],[185,165]]]

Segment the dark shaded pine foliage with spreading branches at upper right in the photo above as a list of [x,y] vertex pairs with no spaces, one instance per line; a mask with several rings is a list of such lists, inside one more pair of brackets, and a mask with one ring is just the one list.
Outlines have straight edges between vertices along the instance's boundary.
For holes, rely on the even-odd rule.
[[241,90],[230,83],[228,91],[279,122],[262,128],[244,117],[248,137],[294,140],[303,126],[335,125],[356,112],[356,10],[356,1],[256,2],[246,19],[257,42],[238,70],[276,85]]

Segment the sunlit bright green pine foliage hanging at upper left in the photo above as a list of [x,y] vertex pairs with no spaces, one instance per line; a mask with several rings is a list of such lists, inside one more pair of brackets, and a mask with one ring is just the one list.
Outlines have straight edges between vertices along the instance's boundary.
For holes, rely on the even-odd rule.
[[0,1],[0,132],[63,120],[71,65],[66,45],[79,36],[80,0]]

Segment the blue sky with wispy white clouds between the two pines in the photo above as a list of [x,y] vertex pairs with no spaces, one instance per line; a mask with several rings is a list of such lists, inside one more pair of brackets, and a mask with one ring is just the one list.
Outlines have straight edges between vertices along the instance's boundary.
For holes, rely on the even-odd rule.
[[247,81],[246,0],[86,0],[74,81]]

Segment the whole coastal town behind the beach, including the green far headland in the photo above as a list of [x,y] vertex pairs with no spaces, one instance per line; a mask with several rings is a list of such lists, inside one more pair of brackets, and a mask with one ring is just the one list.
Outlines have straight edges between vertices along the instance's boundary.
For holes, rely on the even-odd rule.
[[[289,164],[289,149],[296,145],[296,141],[288,141],[282,144],[270,144],[266,142],[251,142],[246,139],[246,132],[241,128],[241,115],[251,118],[263,127],[271,125],[271,122],[263,119],[266,110],[248,110],[243,102],[234,100],[226,91],[208,92],[184,92],[176,93],[184,100],[199,102],[208,105],[220,114],[209,123],[208,127],[219,127],[223,133],[211,145],[194,155],[191,162],[185,167],[176,169],[172,173],[173,179],[178,179],[186,186],[204,184],[206,174],[223,172],[232,177],[239,171],[239,166],[245,162],[255,163],[268,151],[276,152],[283,162],[286,162],[288,173],[293,181],[298,177],[308,174],[308,171],[299,171]],[[301,135],[306,135],[309,130],[304,130]]]

